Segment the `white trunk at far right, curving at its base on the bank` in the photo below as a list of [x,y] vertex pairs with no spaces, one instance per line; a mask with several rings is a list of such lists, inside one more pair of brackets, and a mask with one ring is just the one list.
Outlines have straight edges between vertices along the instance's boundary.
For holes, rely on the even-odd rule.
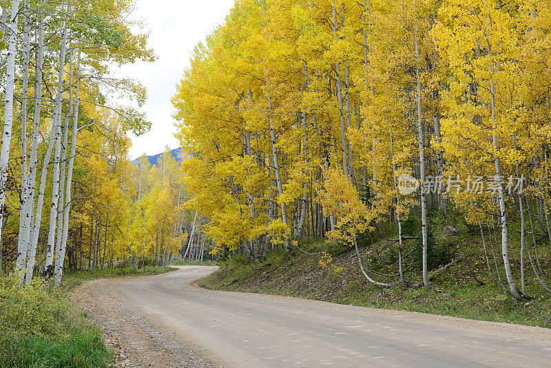
[[[490,71],[490,94],[492,99],[492,143],[495,148],[495,152],[499,152],[499,145],[497,144],[497,123],[495,116],[495,85],[493,78],[493,65],[492,65],[492,49],[490,45],[490,15],[488,14],[488,30],[486,32],[486,41],[488,42],[488,57],[489,57],[489,71]],[[495,174],[497,181],[497,198],[499,201],[499,212],[501,218],[501,255],[503,256],[503,267],[505,268],[505,274],[507,277],[507,283],[509,284],[509,289],[517,300],[522,300],[523,295],[517,287],[514,278],[512,276],[511,264],[509,261],[509,242],[508,242],[508,224],[507,224],[507,212],[505,207],[505,196],[503,194],[503,177],[501,176],[501,163],[499,161],[499,156],[496,154],[494,156],[495,161]]]

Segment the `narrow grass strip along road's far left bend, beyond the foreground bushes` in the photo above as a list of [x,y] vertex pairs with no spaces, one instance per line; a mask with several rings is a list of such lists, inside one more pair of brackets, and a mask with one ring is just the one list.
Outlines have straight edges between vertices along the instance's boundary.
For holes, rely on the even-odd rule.
[[65,274],[63,278],[63,285],[67,289],[79,286],[90,280],[96,278],[113,278],[124,276],[152,276],[157,274],[164,274],[166,272],[174,271],[174,267],[167,266],[145,266],[143,268],[135,267],[115,267],[114,269],[92,269],[90,271],[70,271]]

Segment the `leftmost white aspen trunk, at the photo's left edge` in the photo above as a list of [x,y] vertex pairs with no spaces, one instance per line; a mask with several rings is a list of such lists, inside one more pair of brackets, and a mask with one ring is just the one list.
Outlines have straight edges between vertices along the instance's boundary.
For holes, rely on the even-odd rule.
[[[13,125],[13,92],[15,88],[15,54],[17,52],[17,17],[19,15],[19,0],[12,0],[10,26],[8,27],[8,60],[6,63],[6,94],[4,95],[4,129],[2,147],[0,150],[0,208],[6,203],[6,181],[8,180],[8,165],[10,161],[10,146],[12,144]],[[0,238],[4,227],[3,214],[0,214]]]

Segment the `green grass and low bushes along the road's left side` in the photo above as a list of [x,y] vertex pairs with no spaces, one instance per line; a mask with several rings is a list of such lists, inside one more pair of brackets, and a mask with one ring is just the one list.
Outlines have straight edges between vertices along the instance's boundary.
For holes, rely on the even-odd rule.
[[100,331],[74,305],[70,291],[96,278],[149,276],[171,267],[115,268],[70,272],[62,287],[48,290],[42,280],[21,287],[0,276],[0,368],[110,367],[114,358]]

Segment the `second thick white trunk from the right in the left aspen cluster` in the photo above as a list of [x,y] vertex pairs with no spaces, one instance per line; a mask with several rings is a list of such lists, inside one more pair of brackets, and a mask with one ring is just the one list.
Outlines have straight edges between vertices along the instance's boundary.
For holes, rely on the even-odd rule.
[[[71,12],[71,1],[67,0],[67,14]],[[63,37],[61,41],[61,52],[59,53],[59,75],[57,80],[57,94],[54,103],[54,116],[52,124],[56,127],[55,132],[55,154],[54,154],[54,172],[52,178],[52,204],[50,206],[50,227],[48,231],[48,245],[46,248],[46,260],[44,263],[44,273],[46,277],[53,274],[54,247],[56,238],[56,220],[59,206],[59,169],[61,160],[61,112],[63,105],[63,72],[65,70],[65,53],[67,50],[67,25],[63,25]]]

